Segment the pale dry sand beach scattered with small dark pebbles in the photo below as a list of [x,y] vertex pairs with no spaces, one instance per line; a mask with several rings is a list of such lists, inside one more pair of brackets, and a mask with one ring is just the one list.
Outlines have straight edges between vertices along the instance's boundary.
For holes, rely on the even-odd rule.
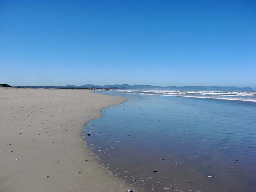
[[86,121],[126,98],[90,90],[0,88],[0,192],[116,192],[127,186],[84,146]]

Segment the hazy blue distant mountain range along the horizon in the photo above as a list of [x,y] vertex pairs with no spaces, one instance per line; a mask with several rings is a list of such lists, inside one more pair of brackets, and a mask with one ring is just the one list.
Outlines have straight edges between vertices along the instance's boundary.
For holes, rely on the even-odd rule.
[[139,89],[139,90],[178,90],[178,91],[254,91],[250,87],[216,87],[216,86],[184,86],[184,87],[176,87],[176,86],[152,86],[152,85],[66,85],[66,86],[18,86],[24,88],[96,88],[96,89]]

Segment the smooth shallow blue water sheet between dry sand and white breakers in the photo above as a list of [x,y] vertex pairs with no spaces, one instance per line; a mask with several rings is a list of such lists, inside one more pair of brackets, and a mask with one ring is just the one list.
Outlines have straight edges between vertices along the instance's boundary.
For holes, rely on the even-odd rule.
[[132,189],[256,191],[255,102],[104,93],[130,100],[102,110],[84,136]]

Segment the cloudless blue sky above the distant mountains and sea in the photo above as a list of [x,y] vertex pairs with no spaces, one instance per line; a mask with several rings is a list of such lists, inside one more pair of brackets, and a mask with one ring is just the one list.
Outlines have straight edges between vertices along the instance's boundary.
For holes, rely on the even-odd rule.
[[0,83],[256,88],[256,1],[0,0]]

